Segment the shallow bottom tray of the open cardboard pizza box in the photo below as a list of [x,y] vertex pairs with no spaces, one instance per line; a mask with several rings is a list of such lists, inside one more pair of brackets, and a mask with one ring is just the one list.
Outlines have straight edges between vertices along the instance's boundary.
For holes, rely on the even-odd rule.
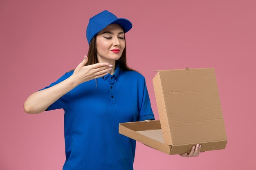
[[[159,120],[119,123],[119,133],[168,155],[189,153],[191,148],[197,144],[181,144],[176,146],[165,144]],[[207,141],[200,142],[199,144],[202,145],[201,152],[219,150],[225,149],[227,140]]]

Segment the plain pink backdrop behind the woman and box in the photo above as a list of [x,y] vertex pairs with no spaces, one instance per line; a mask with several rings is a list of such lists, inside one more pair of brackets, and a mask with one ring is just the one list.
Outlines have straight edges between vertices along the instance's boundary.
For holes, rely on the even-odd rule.
[[156,119],[154,70],[215,68],[220,93],[225,150],[186,158],[137,142],[134,169],[255,170],[255,0],[1,0],[0,170],[62,169],[64,111],[29,115],[23,103],[83,60],[88,20],[105,9],[133,24],[128,65],[146,77]]

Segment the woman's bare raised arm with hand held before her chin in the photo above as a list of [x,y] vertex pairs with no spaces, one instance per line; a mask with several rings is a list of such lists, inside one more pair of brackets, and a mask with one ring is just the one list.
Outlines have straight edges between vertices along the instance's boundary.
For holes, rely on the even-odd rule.
[[102,77],[112,69],[112,65],[106,62],[85,66],[87,61],[88,57],[85,55],[83,61],[76,67],[70,77],[52,87],[30,95],[23,106],[25,112],[29,114],[41,113],[79,84]]

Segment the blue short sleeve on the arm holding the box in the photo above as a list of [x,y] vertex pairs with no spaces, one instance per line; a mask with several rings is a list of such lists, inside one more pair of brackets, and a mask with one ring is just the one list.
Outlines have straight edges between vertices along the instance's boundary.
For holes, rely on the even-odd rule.
[[146,80],[143,76],[141,80],[141,86],[139,86],[139,117],[138,121],[144,121],[147,119],[155,120],[154,113],[151,108],[150,99],[148,95],[148,89],[146,86]]

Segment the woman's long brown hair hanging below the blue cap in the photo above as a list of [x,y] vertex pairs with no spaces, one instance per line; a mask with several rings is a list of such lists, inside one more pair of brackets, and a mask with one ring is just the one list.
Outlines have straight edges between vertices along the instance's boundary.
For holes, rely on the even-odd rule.
[[[96,44],[96,36],[97,35],[95,35],[92,38],[91,42],[90,42],[89,50],[88,50],[88,54],[87,54],[88,61],[87,61],[87,63],[85,63],[85,66],[98,63],[98,59],[97,59],[97,44]],[[124,41],[126,42],[125,36],[124,36]],[[116,66],[117,66],[117,64],[119,64],[119,68],[122,71],[136,71],[136,70],[134,70],[134,69],[132,69],[132,68],[127,66],[127,63],[126,63],[126,46],[124,47],[124,51],[123,51],[121,57],[118,60],[116,60],[115,64],[116,64]],[[72,69],[69,72],[74,71],[74,70],[75,69]],[[139,73],[139,71],[136,71],[136,72]],[[95,82],[96,82],[96,88],[97,88],[97,79],[95,79]]]

